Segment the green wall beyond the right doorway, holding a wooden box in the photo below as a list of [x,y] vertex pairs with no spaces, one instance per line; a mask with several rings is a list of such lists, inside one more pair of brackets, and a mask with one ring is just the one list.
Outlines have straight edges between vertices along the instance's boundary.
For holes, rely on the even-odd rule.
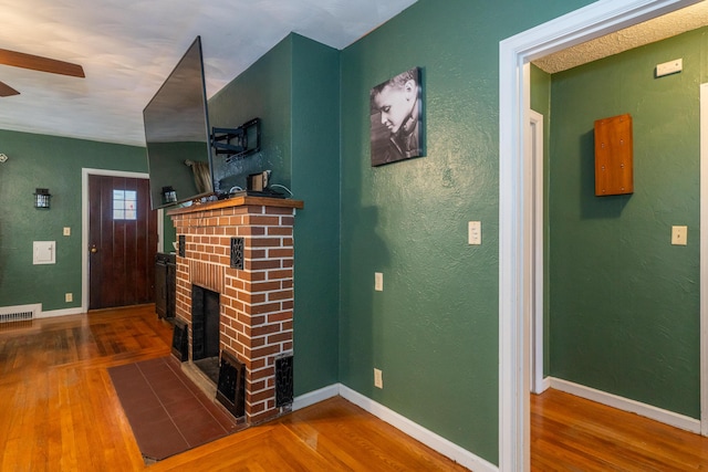
[[[705,43],[699,30],[553,74],[551,97],[551,375],[691,418]],[[654,77],[677,57],[680,74]],[[624,113],[634,195],[594,197],[594,120]],[[673,224],[687,247],[670,244]]]

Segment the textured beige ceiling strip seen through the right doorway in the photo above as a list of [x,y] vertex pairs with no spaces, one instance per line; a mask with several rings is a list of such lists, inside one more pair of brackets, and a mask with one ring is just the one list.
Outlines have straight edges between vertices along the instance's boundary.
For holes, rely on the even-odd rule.
[[[533,61],[533,64],[553,74],[707,24],[708,1],[702,1],[664,17],[546,55]],[[678,57],[666,57],[667,61],[673,59]]]

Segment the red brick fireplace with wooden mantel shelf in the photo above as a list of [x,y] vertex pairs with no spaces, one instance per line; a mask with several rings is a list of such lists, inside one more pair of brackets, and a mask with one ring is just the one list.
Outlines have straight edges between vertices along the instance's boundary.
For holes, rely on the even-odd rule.
[[293,223],[298,200],[237,197],[168,214],[177,254],[176,316],[192,340],[192,285],[219,294],[219,347],[246,366],[246,422],[281,415],[275,360],[293,349]]

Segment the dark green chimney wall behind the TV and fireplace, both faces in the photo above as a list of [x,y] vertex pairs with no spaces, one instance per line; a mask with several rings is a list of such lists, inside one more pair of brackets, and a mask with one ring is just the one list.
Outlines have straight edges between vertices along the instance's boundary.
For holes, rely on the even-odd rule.
[[337,381],[339,57],[334,49],[289,34],[209,99],[211,126],[262,120],[260,153],[217,164],[227,188],[272,169],[272,183],[305,204],[294,228],[295,395]]

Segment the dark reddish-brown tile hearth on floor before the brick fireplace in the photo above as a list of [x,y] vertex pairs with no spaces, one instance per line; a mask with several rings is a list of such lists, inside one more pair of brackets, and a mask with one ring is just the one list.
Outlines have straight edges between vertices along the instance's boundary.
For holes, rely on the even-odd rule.
[[162,460],[239,429],[171,356],[112,367],[108,374],[146,459]]

